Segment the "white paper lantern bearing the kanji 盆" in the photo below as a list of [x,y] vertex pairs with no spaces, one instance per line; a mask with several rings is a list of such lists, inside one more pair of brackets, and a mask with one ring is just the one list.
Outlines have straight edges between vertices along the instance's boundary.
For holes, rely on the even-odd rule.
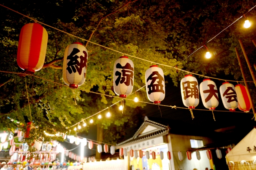
[[160,104],[165,96],[164,72],[162,68],[156,65],[150,66],[146,70],[145,79],[148,99],[154,102],[154,104]]

